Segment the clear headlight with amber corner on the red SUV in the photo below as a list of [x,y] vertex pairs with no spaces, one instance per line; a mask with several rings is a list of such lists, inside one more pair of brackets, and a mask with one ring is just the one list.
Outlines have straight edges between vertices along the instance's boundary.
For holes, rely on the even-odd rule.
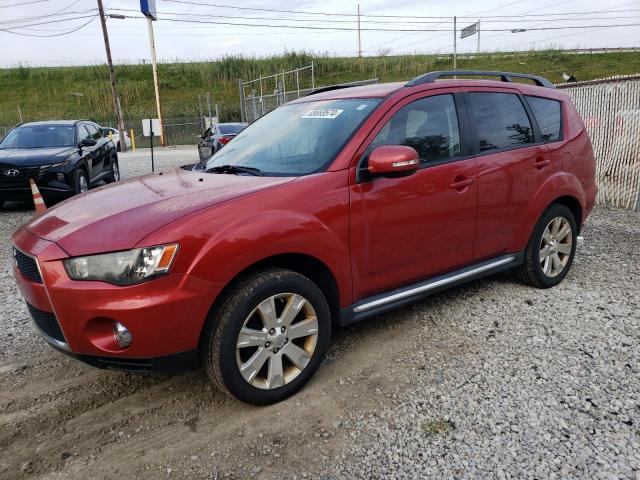
[[135,285],[169,273],[178,244],[136,248],[125,252],[68,258],[64,268],[72,280],[98,280]]

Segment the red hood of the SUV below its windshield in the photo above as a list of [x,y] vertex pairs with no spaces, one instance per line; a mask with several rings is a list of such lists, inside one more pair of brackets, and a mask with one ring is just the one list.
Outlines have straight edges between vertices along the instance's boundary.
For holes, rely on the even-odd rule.
[[174,169],[92,190],[47,210],[24,228],[71,256],[127,250],[181,217],[291,180]]

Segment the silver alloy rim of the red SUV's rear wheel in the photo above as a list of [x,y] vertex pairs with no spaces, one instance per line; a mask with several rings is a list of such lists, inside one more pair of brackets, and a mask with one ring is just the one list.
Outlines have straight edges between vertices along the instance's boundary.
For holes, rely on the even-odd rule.
[[555,217],[544,229],[540,240],[540,267],[547,277],[556,277],[564,270],[573,247],[571,224],[564,217]]

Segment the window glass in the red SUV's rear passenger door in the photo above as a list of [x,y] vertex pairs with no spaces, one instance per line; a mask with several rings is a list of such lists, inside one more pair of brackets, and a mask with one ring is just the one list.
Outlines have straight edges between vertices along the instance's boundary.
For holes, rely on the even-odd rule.
[[533,143],[531,122],[517,95],[472,92],[469,96],[481,152]]

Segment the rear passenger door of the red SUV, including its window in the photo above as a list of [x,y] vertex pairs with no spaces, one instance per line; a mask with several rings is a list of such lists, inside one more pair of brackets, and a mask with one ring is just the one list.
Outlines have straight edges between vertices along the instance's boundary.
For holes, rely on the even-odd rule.
[[517,90],[465,90],[478,160],[475,258],[481,260],[520,248],[516,229],[537,185],[551,173],[551,160]]

